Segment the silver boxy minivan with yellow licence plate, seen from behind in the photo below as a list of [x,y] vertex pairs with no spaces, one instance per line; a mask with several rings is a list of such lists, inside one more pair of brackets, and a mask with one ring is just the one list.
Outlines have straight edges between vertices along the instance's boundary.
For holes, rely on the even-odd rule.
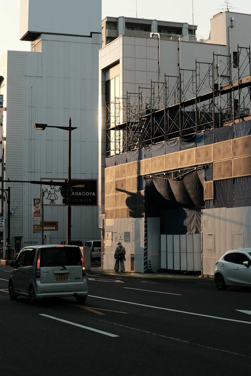
[[74,296],[84,303],[88,296],[82,253],[77,246],[41,245],[23,248],[11,262],[9,296],[38,299]]

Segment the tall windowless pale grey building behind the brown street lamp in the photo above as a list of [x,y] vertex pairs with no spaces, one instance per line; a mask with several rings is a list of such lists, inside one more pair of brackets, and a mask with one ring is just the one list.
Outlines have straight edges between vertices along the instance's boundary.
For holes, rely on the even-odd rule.
[[[36,131],[33,123],[77,127],[71,132],[71,179],[98,179],[98,50],[102,46],[101,0],[21,0],[20,39],[31,41],[31,52],[7,51],[0,58],[3,95],[2,180],[10,186],[10,244],[41,244],[33,232],[32,199],[44,196],[44,235],[49,243],[66,240],[67,208],[58,186],[67,180],[68,131]],[[48,180],[48,185],[29,181]],[[86,182],[85,182],[86,185]],[[81,190],[80,190],[81,191]],[[81,191],[83,192],[83,190]],[[75,192],[76,194],[76,192]],[[71,208],[71,240],[100,238],[97,204],[89,194]],[[3,216],[7,225],[7,201]],[[54,223],[50,225],[50,222]],[[52,230],[58,222],[58,230]],[[8,228],[3,233],[7,241]]]

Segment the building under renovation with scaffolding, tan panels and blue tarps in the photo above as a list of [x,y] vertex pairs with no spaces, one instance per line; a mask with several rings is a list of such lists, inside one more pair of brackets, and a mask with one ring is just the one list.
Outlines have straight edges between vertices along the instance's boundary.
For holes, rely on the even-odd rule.
[[[148,23],[159,27],[155,21]],[[118,239],[128,253],[127,271],[210,276],[229,247],[251,246],[250,219],[246,226],[251,207],[250,21],[251,15],[221,12],[211,19],[211,39],[202,41],[195,35],[191,40],[189,32],[187,38],[183,31],[167,38],[152,29],[137,30],[138,19],[103,20],[99,226],[104,268],[114,266]],[[134,29],[126,29],[125,22]],[[182,171],[187,180],[198,171],[197,183],[185,182]],[[238,195],[244,191],[242,200]],[[237,211],[240,220],[230,226]]]

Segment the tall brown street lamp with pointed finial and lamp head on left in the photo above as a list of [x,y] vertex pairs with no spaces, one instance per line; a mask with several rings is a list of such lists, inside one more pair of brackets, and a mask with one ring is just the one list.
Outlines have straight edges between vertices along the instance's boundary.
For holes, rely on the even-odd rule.
[[77,129],[77,127],[71,126],[71,118],[69,118],[69,126],[68,127],[59,127],[59,126],[52,126],[47,124],[38,124],[34,123],[33,127],[36,130],[44,130],[46,127],[48,128],[58,128],[68,130],[68,181],[67,181],[67,237],[66,243],[68,245],[71,244],[71,201],[70,201],[70,194],[71,194],[71,131]]

